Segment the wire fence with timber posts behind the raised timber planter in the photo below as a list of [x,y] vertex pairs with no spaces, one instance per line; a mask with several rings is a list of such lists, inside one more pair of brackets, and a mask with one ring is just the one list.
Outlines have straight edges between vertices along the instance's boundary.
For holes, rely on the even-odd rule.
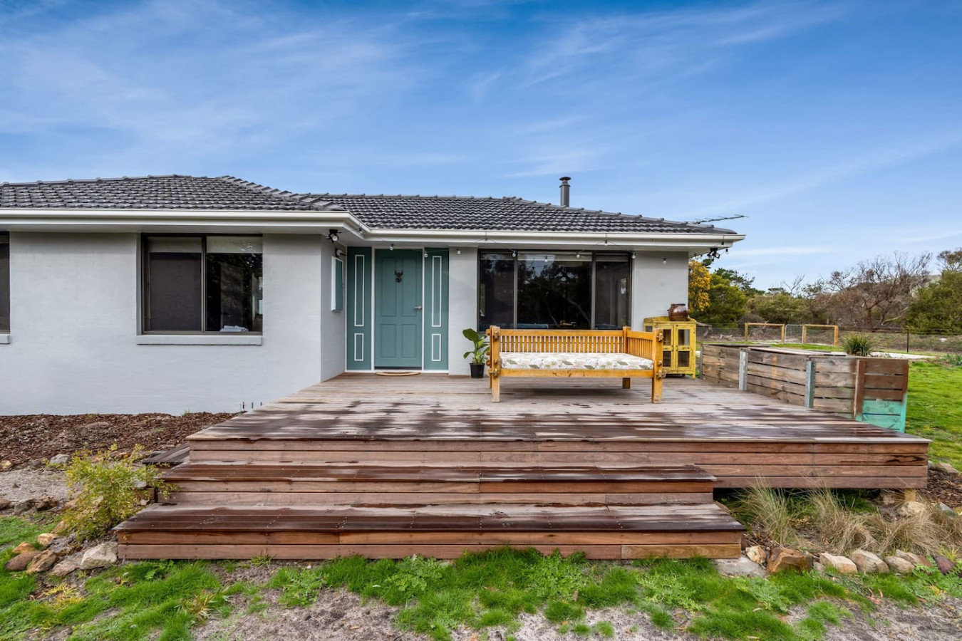
[[[918,332],[866,332],[864,330],[839,330],[839,350],[842,343],[852,334],[863,334],[872,337],[875,349],[879,352],[938,352],[946,354],[962,353],[962,334],[952,333],[918,333]],[[746,328],[739,325],[698,325],[697,340],[709,343],[744,343],[746,342]],[[748,328],[750,343],[802,343],[802,326],[785,325],[784,341],[782,326],[752,325]],[[808,327],[805,331],[805,344],[832,345],[835,331],[831,328]]]

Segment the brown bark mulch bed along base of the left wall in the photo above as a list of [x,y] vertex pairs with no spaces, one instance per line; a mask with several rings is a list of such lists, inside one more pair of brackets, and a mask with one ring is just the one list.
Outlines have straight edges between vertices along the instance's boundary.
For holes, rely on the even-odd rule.
[[147,452],[169,449],[235,413],[170,414],[29,414],[0,416],[0,460],[14,465],[80,450],[117,449],[129,452],[142,445]]

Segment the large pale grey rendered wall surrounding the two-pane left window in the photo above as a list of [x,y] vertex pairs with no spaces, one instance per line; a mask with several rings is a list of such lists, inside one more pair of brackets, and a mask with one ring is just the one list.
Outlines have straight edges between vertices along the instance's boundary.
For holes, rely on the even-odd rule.
[[237,410],[343,371],[323,237],[265,236],[262,345],[139,345],[138,244],[137,234],[11,234],[0,414]]

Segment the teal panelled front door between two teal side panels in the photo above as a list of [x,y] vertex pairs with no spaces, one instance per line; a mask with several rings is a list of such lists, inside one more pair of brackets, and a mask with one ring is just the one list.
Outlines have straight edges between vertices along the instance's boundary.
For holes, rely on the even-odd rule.
[[374,367],[420,369],[421,252],[379,249],[374,256]]

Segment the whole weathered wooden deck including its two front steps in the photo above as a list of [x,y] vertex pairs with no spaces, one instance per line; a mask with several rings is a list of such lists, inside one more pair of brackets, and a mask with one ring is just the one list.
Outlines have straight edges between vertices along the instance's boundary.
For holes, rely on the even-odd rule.
[[689,379],[344,375],[190,436],[127,558],[735,556],[714,487],[922,487],[924,439]]

